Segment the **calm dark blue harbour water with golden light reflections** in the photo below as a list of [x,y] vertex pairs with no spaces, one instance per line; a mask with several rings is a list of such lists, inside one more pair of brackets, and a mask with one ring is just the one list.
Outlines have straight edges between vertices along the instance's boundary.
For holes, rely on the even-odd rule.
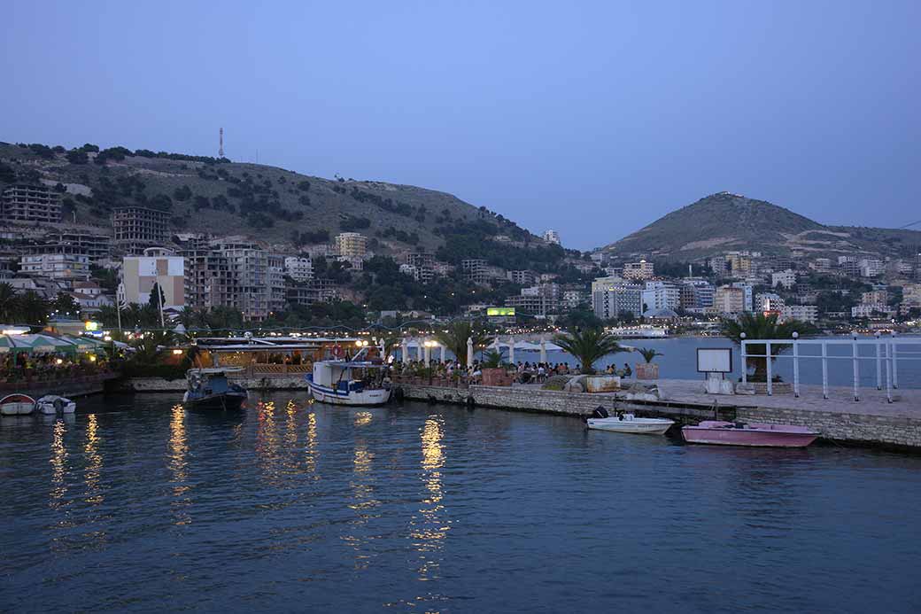
[[267,396],[0,422],[0,609],[921,611],[921,458]]

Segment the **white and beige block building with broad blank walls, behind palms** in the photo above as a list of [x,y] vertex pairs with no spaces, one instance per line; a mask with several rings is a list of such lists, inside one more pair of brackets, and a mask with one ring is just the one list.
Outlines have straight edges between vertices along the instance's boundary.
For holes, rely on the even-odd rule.
[[[125,256],[122,284],[124,300],[128,303],[146,304],[157,284],[163,290],[163,308],[182,309],[185,307],[185,258],[168,255],[157,248],[147,250],[143,256]],[[156,294],[154,300],[157,300]]]

